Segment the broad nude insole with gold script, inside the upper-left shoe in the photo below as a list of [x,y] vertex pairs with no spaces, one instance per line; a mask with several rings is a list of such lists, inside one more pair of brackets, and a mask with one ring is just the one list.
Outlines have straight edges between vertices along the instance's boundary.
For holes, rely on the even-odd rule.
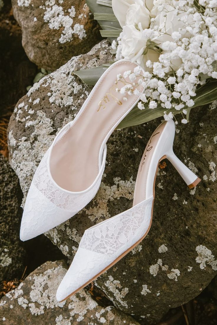
[[[124,84],[115,84],[117,74],[136,67],[130,62],[119,62],[105,73],[82,114],[67,133],[57,141],[50,156],[50,172],[54,181],[69,191],[87,189],[99,173],[99,150],[103,140],[125,112],[138,100],[139,95],[115,92]],[[128,79],[129,81],[129,79]],[[135,87],[134,87],[135,88]]]

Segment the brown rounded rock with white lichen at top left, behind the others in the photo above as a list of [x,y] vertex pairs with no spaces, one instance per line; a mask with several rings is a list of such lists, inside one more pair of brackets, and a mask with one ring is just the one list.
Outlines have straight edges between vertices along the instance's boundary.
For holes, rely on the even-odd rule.
[[87,53],[102,39],[85,0],[12,0],[12,5],[27,56],[47,70]]

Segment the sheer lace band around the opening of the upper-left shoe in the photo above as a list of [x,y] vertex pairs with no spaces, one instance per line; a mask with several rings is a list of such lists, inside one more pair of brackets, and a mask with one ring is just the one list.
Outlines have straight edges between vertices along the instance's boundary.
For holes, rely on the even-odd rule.
[[[77,195],[62,191],[60,188],[55,186],[48,174],[48,153],[49,150],[42,158],[34,174],[33,184],[55,206],[68,211],[81,210],[96,195],[100,187],[101,177],[99,177],[95,185],[85,193]],[[43,204],[43,202],[41,202],[41,204]]]

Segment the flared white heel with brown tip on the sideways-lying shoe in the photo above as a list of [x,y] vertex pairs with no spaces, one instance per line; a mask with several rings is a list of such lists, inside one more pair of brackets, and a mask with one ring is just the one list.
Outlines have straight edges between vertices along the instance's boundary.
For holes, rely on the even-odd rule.
[[189,188],[194,188],[201,181],[197,175],[195,175],[178,157],[176,157],[173,151],[167,153],[167,159],[172,163]]

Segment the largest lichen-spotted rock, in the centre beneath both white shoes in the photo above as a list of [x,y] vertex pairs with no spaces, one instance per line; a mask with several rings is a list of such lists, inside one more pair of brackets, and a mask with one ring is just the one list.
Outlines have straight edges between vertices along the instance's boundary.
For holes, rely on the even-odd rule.
[[[20,178],[24,195],[57,130],[73,118],[90,90],[73,79],[68,92],[64,88],[66,74],[70,76],[73,62],[90,60],[87,67],[97,65],[98,59],[93,59],[98,58],[97,53],[101,53],[101,63],[106,62],[106,41],[102,44],[105,50],[94,49],[93,56],[69,61],[18,102],[8,131],[11,165]],[[52,82],[46,87],[49,78]],[[55,80],[57,86],[48,94]],[[77,85],[83,85],[78,92]],[[30,106],[25,110],[30,98],[32,102],[40,98],[38,104],[31,103],[33,114],[28,113]],[[49,100],[55,104],[50,106]],[[134,314],[141,324],[153,324],[170,307],[197,296],[216,274],[216,109],[213,104],[211,108],[192,110],[190,123],[177,126],[174,151],[202,182],[189,190],[167,162],[156,179],[153,225],[148,236],[96,281],[115,306]],[[139,162],[159,123],[158,119],[112,134],[97,196],[74,218],[47,233],[66,256],[73,258],[86,228],[131,207]]]

